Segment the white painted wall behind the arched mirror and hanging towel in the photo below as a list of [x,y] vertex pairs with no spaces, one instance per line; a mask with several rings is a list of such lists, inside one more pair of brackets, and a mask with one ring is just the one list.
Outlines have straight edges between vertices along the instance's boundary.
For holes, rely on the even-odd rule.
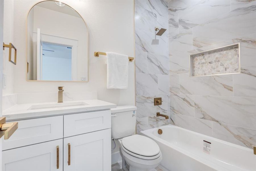
[[129,62],[129,88],[107,89],[106,57],[94,57],[94,51],[134,56],[134,2],[63,1],[78,11],[88,25],[89,82],[35,82],[26,81],[26,18],[37,2],[39,0],[14,1],[13,42],[18,49],[17,65],[14,66],[14,93],[55,92],[58,86],[64,86],[64,91],[98,91],[98,99],[118,105],[135,105],[134,61]]

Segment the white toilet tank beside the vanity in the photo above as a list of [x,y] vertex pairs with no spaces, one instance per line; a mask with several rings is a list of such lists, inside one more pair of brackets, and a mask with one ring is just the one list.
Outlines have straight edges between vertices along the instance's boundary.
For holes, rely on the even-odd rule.
[[111,136],[119,139],[132,135],[136,130],[136,106],[117,106],[111,109]]

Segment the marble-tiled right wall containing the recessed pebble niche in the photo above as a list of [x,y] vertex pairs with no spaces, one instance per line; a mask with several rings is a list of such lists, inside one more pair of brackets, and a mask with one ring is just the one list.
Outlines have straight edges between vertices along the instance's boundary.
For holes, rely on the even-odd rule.
[[[256,146],[255,21],[254,0],[168,2],[171,124]],[[238,42],[241,74],[189,77],[190,54]]]

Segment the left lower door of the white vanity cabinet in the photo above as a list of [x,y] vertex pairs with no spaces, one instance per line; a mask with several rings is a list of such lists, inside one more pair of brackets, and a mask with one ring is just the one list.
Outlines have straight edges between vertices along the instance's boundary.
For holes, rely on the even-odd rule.
[[[59,160],[57,160],[57,152],[59,152]],[[2,171],[46,170],[63,170],[63,139],[3,151]]]

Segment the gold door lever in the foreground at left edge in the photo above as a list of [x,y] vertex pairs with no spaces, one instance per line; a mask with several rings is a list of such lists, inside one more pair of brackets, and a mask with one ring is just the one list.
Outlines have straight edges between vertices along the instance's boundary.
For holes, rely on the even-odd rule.
[[5,135],[5,140],[9,139],[18,129],[18,122],[5,123],[5,117],[0,118],[0,125],[0,138]]

